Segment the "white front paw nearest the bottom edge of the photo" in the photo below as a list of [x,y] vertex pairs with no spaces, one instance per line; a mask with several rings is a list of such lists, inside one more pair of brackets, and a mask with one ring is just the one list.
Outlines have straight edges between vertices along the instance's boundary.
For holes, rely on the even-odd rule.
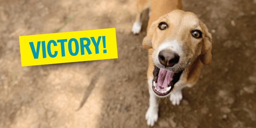
[[146,120],[149,126],[154,126],[155,122],[158,120],[158,108],[149,107],[146,113]]

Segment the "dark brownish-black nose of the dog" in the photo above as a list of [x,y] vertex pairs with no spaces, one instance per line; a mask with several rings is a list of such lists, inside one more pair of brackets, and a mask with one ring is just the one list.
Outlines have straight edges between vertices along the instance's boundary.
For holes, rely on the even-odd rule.
[[160,63],[165,67],[172,67],[179,62],[180,56],[169,50],[162,50],[158,54]]

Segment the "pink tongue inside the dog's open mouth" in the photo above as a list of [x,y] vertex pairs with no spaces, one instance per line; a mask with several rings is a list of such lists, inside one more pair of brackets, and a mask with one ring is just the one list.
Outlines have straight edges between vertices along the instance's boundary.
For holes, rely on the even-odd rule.
[[158,81],[156,83],[156,88],[160,91],[165,91],[169,83],[171,83],[174,72],[167,72],[167,70],[160,69],[158,74]]

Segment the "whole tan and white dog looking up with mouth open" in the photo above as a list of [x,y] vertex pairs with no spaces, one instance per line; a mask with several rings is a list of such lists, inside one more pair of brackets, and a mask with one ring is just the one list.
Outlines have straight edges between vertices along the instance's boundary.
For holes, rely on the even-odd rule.
[[152,13],[143,47],[152,53],[146,120],[153,126],[158,120],[157,97],[170,96],[172,104],[179,105],[182,88],[192,87],[199,79],[200,68],[212,60],[212,36],[194,13],[184,11],[181,0],[138,0],[134,34],[141,29],[142,11],[150,5]]

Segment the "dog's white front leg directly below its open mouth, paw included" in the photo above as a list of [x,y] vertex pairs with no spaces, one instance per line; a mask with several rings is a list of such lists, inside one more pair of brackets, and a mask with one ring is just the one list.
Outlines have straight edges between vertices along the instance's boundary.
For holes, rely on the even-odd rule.
[[150,126],[154,126],[154,123],[158,120],[158,101],[156,99],[156,95],[153,90],[149,88],[149,108],[146,113],[147,124]]

